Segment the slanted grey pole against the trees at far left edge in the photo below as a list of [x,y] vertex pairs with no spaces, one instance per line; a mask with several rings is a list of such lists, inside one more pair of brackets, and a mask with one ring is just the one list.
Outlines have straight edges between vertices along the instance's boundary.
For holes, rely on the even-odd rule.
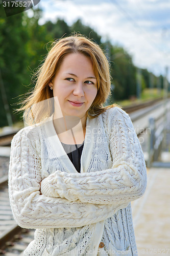
[[7,95],[6,95],[6,91],[5,91],[5,87],[4,87],[4,83],[3,83],[3,79],[2,79],[2,75],[1,75],[1,69],[0,69],[0,88],[1,88],[1,94],[2,94],[3,103],[4,103],[4,109],[6,111],[8,125],[12,126],[12,124],[13,124],[12,123],[12,116],[11,116],[11,113],[10,113],[8,99],[7,99]]

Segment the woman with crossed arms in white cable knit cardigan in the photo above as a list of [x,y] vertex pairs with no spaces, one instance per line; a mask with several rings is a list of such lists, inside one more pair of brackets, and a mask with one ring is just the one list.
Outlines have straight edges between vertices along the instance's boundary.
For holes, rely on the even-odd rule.
[[9,195],[24,255],[137,255],[131,201],[147,176],[130,117],[110,94],[108,61],[83,36],[55,42],[11,142]]

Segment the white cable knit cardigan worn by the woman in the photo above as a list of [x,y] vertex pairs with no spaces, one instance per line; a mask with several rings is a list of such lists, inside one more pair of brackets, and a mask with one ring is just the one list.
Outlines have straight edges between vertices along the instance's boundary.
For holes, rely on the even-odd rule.
[[118,107],[87,117],[78,173],[53,116],[11,142],[12,212],[19,226],[36,229],[24,255],[137,255],[130,202],[143,195],[147,175],[130,117]]

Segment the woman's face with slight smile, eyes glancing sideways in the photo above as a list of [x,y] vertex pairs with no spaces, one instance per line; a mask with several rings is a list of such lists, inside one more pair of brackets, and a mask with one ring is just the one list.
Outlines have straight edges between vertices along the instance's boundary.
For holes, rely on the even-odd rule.
[[[49,86],[53,86],[53,95],[57,96],[63,116],[87,116],[98,92],[90,58],[81,53],[66,55]],[[55,98],[55,112],[56,108]]]

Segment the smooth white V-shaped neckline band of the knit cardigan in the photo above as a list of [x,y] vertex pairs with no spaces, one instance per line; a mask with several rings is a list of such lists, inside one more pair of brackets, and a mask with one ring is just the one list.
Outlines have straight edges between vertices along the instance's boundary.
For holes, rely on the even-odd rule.
[[[77,169],[75,168],[74,164],[70,161],[69,157],[67,156],[59,137],[56,133],[56,130],[54,128],[53,124],[53,117],[54,113],[48,117],[44,123],[45,132],[46,132],[46,139],[48,142],[50,142],[51,146],[53,147],[53,150],[56,154],[56,156],[60,159],[62,165],[66,169],[66,172],[68,173],[78,173]],[[92,147],[93,147],[93,141],[94,141],[94,134],[93,129],[95,128],[96,124],[96,118],[90,119],[87,116],[86,120],[86,134],[85,134],[85,140],[84,140],[84,147],[81,155],[81,170],[80,173],[84,173],[87,171],[88,165],[90,163],[91,159],[91,153],[92,153]]]

